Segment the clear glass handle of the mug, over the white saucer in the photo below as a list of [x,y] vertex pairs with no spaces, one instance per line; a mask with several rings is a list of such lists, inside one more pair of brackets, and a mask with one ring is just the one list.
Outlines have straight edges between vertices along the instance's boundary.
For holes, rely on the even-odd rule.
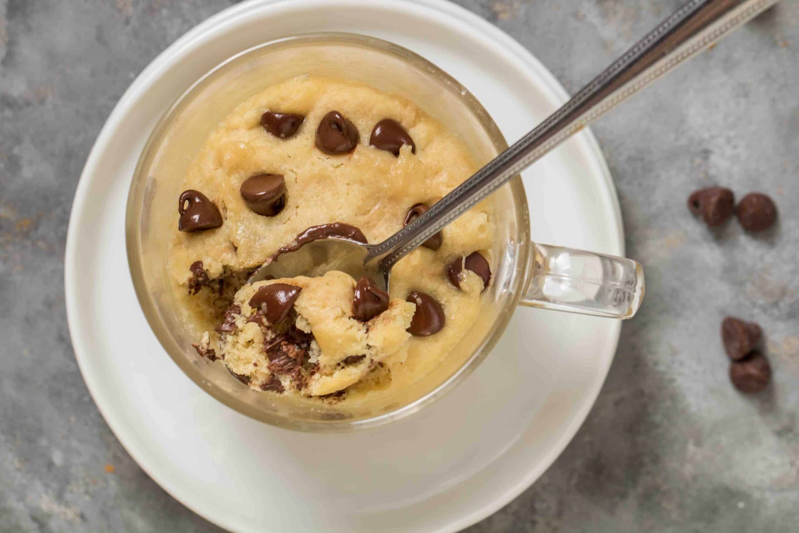
[[644,296],[637,261],[604,253],[531,243],[527,291],[520,305],[628,319]]

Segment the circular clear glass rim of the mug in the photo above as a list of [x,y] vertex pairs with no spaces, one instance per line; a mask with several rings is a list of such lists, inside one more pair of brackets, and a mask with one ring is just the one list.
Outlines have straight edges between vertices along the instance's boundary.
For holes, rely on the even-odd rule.
[[[143,261],[141,257],[141,229],[143,223],[146,225],[146,221],[142,218],[143,210],[141,206],[145,201],[145,197],[148,194],[152,194],[152,190],[149,190],[147,187],[148,183],[146,179],[139,178],[143,176],[142,172],[145,167],[153,162],[153,150],[157,151],[158,146],[164,141],[176,115],[179,115],[181,111],[185,110],[185,107],[190,105],[193,101],[192,98],[197,97],[197,94],[201,93],[203,89],[207,89],[221,77],[224,77],[225,74],[229,74],[229,72],[237,66],[240,66],[249,58],[252,58],[253,54],[264,54],[269,50],[278,49],[281,46],[297,46],[323,42],[333,42],[340,45],[358,46],[376,50],[381,54],[387,54],[388,56],[397,58],[416,70],[419,70],[419,72],[425,73],[431,76],[431,78],[435,78],[439,83],[438,89],[448,91],[451,93],[451,96],[457,97],[457,99],[471,111],[476,121],[479,123],[479,126],[483,129],[483,133],[489,137],[493,148],[497,152],[507,148],[507,142],[502,133],[499,132],[499,128],[483,108],[483,105],[481,105],[465,87],[461,86],[455,78],[452,78],[449,74],[440,70],[437,66],[420,57],[418,54],[414,54],[410,50],[406,50],[391,42],[362,35],[335,32],[300,34],[265,42],[259,46],[254,46],[234,55],[232,58],[214,67],[197,80],[197,82],[193,83],[181,97],[177,98],[173,105],[169,106],[169,109],[167,109],[163,117],[161,117],[161,120],[158,121],[157,125],[153,128],[153,132],[150,134],[145,148],[142,150],[129,190],[125,213],[125,237],[128,261],[137,298],[150,328],[153,329],[153,333],[161,342],[162,347],[165,348],[165,351],[175,361],[178,367],[198,386],[203,388],[205,392],[209,392],[209,394],[214,396],[217,400],[220,400],[222,403],[238,412],[242,412],[247,416],[251,416],[256,420],[261,420],[268,424],[311,432],[348,431],[355,428],[368,428],[381,424],[388,424],[389,422],[400,420],[413,412],[419,411],[419,409],[427,404],[431,404],[434,400],[446,394],[446,392],[454,388],[455,385],[459,384],[471,374],[485,359],[497,340],[499,340],[499,336],[504,332],[512,315],[511,312],[499,313],[493,324],[491,324],[491,327],[487,328],[487,335],[483,337],[483,340],[479,342],[479,344],[475,344],[474,348],[471,350],[471,355],[468,356],[467,359],[463,361],[463,364],[460,364],[459,368],[457,368],[455,372],[452,372],[446,380],[440,382],[429,392],[395,410],[383,412],[376,416],[364,416],[360,419],[303,420],[287,418],[286,416],[276,416],[271,412],[264,412],[262,409],[253,408],[252,404],[241,400],[237,392],[231,393],[207,379],[197,368],[197,364],[193,364],[185,356],[186,349],[177,344],[174,336],[169,332],[169,328],[166,327],[164,318],[161,316],[161,312],[157,308],[156,302],[153,300],[153,292],[145,276],[145,268],[142,264]],[[520,177],[517,176],[513,178],[513,180],[509,182],[508,187],[511,189],[515,208],[519,213],[517,217],[519,219],[519,228],[517,229],[519,242],[529,242],[529,214],[527,213],[527,200]],[[531,247],[522,245],[519,248],[520,255],[516,258],[514,265],[517,272],[512,276],[511,285],[503,288],[503,293],[509,295],[507,296],[507,301],[504,303],[505,308],[515,308],[525,293],[523,289],[527,288],[530,283],[530,279],[528,279],[527,276],[527,262],[531,253]]]

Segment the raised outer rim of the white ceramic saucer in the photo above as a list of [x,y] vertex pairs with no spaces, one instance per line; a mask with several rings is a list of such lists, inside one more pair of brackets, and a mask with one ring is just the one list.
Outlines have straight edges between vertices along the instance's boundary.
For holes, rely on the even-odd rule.
[[[70,329],[70,336],[74,345],[75,357],[78,361],[78,367],[81,370],[81,375],[85,380],[86,386],[89,389],[89,393],[91,394],[95,404],[97,404],[97,408],[105,418],[106,423],[109,424],[111,431],[115,436],[117,436],[117,439],[120,441],[122,446],[125,447],[125,450],[128,451],[133,459],[137,461],[141,468],[156,483],[158,483],[158,485],[160,485],[175,499],[183,503],[186,507],[189,507],[192,511],[196,512],[198,515],[203,516],[205,519],[208,519],[220,527],[228,528],[236,527],[233,525],[233,521],[231,521],[229,517],[209,515],[205,509],[195,507],[187,499],[181,498],[181,491],[178,490],[169,479],[161,476],[160,473],[153,467],[153,465],[148,463],[144,451],[137,449],[137,447],[134,446],[135,440],[129,438],[127,428],[125,428],[124,420],[117,420],[113,418],[113,416],[109,416],[109,413],[106,412],[106,408],[104,406],[104,398],[101,396],[101,393],[97,388],[97,384],[88,379],[89,372],[87,368],[90,364],[90,360],[87,354],[91,352],[91,346],[89,344],[83,344],[84,338],[81,336],[80,332],[84,330],[84,324],[81,323],[81,313],[79,312],[80,304],[76,298],[76,276],[78,276],[79,273],[78,257],[76,254],[77,242],[80,238],[78,229],[81,226],[83,207],[88,199],[89,181],[91,181],[93,174],[96,172],[97,161],[100,159],[101,153],[104,152],[109,144],[109,138],[112,136],[113,131],[117,129],[121,118],[125,117],[125,115],[129,113],[130,108],[141,96],[141,93],[143,93],[145,89],[149,87],[165,69],[169,68],[170,64],[178,61],[181,56],[187,52],[187,50],[190,50],[191,45],[196,42],[197,39],[205,39],[212,35],[214,33],[214,26],[218,28],[225,22],[229,21],[229,19],[235,18],[238,15],[256,7],[288,2],[291,2],[291,0],[248,0],[247,2],[242,2],[237,6],[232,6],[227,10],[223,10],[213,17],[205,20],[205,22],[201,22],[201,24],[195,26],[181,38],[177,39],[176,42],[174,42],[164,52],[158,55],[157,58],[155,58],[153,62],[151,62],[149,66],[147,66],[145,70],[141,72],[141,74],[136,78],[131,86],[129,86],[129,88],[121,97],[120,101],[114,107],[112,113],[109,115],[108,120],[101,129],[101,132],[97,137],[97,141],[95,141],[93,148],[89,153],[83,173],[81,173],[80,181],[78,181],[78,188],[74,197],[66,239],[65,295],[67,320]],[[352,0],[350,3],[358,2],[368,3],[368,0]],[[491,25],[491,23],[487,22],[483,18],[479,18],[479,16],[476,14],[472,14],[470,11],[465,10],[460,6],[450,2],[445,2],[443,0],[403,0],[402,3],[404,4],[403,7],[407,8],[408,10],[418,10],[420,7],[426,7],[431,10],[436,10],[439,13],[447,14],[448,16],[456,18],[466,25],[475,28],[487,37],[483,40],[486,46],[502,47],[509,59],[512,58],[513,61],[522,66],[524,70],[535,73],[535,78],[537,78],[543,89],[547,90],[551,101],[560,104],[568,99],[569,95],[566,93],[566,90],[563,89],[557,79],[549,72],[549,70],[547,70],[546,67],[543,66],[541,62],[533,57],[529,51],[527,51],[513,38],[505,34],[502,30],[499,30],[499,28],[496,26]],[[575,141],[578,141],[582,145],[581,148],[589,155],[591,175],[593,177],[600,177],[603,181],[602,185],[606,194],[603,194],[602,197],[597,198],[597,201],[602,205],[601,209],[603,212],[614,213],[614,219],[617,226],[617,235],[614,239],[618,248],[616,253],[623,255],[624,235],[622,228],[622,215],[618,205],[618,197],[616,195],[614,183],[610,177],[610,170],[606,165],[606,161],[602,156],[602,151],[599,148],[593,133],[590,132],[590,129],[584,129],[581,133],[579,133],[578,136],[575,136]],[[574,434],[578,431],[578,428],[580,428],[583,421],[586,419],[588,412],[590,412],[590,408],[593,407],[598,393],[602,388],[602,384],[604,383],[607,372],[610,369],[610,364],[613,361],[614,353],[618,345],[621,324],[619,322],[611,323],[608,329],[610,330],[610,342],[606,346],[606,349],[603,349],[602,352],[598,352],[596,354],[596,357],[598,357],[600,360],[600,364],[598,365],[599,372],[596,373],[590,389],[587,390],[586,394],[583,396],[582,405],[576,409],[574,416],[572,416],[571,420],[569,420],[569,422],[563,428],[559,440],[557,440],[551,447],[550,451],[545,454],[543,460],[540,460],[539,463],[531,467],[527,472],[527,475],[520,479],[519,482],[507,487],[506,491],[504,491],[502,495],[487,501],[483,507],[475,509],[468,515],[463,515],[461,519],[450,523],[448,527],[440,529],[439,531],[459,531],[465,527],[479,522],[479,520],[486,518],[495,511],[498,511],[499,508],[505,506],[507,503],[511,502],[512,499],[515,499],[519,494],[525,491],[527,487],[530,487],[531,484],[535,482],[535,479],[538,479],[539,476],[551,466],[555,459],[557,459],[566,445],[569,444],[570,440],[574,437]]]

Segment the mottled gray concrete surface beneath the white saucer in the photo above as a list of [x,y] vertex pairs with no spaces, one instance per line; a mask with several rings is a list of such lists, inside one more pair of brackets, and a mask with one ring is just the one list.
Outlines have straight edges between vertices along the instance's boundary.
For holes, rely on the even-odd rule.
[[[220,531],[125,453],[66,328],[66,223],[135,74],[234,2],[0,0],[0,531]],[[678,0],[462,0],[570,91]],[[647,296],[586,424],[471,533],[799,531],[799,0],[785,0],[594,127]],[[710,232],[686,195],[773,195],[777,229]],[[759,321],[773,386],[739,395],[718,325]]]

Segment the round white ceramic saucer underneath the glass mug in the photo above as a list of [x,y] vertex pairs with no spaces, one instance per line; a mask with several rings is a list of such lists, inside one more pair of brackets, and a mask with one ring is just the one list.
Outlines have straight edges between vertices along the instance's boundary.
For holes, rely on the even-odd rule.
[[[310,435],[250,420],[197,388],[158,344],[133,293],[125,199],[158,117],[240,50],[328,30],[388,39],[443,67],[483,102],[508,141],[566,100],[518,43],[441,0],[256,0],[225,10],[142,72],[89,156],[66,245],[75,354],[130,455],[221,527],[458,531],[519,495],[566,447],[610,367],[618,322],[519,308],[495,352],[439,403],[383,428]],[[524,178],[536,240],[622,255],[618,202],[589,131]]]

